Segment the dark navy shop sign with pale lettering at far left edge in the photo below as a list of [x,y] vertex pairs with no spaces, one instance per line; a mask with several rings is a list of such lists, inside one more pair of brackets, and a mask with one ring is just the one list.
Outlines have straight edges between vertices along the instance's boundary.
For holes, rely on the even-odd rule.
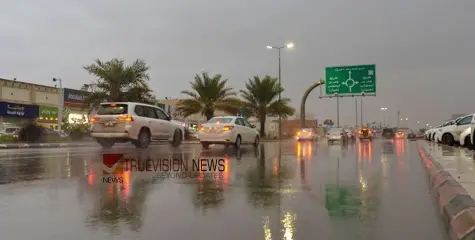
[[0,118],[2,126],[20,126],[39,115],[37,105],[0,102]]

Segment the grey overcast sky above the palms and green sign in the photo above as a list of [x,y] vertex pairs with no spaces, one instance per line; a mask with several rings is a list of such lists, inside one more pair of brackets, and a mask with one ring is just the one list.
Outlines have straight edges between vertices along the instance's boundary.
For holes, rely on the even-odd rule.
[[[114,57],[146,60],[159,98],[180,97],[200,71],[241,88],[253,75],[277,76],[284,95],[301,95],[325,66],[376,64],[377,97],[364,121],[387,107],[415,122],[438,124],[475,112],[474,0],[3,0],[0,76],[79,88],[82,66]],[[336,100],[309,96],[307,112],[336,119]],[[354,99],[340,101],[340,123],[354,124]]]

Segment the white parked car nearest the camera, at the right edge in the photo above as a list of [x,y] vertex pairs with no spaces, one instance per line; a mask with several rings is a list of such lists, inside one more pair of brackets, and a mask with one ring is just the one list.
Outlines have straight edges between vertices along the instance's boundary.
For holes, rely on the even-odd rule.
[[460,118],[457,118],[453,124],[440,128],[436,133],[436,141],[442,142],[449,146],[453,146],[455,143],[460,142],[460,134],[471,126],[473,123],[473,117],[475,114],[469,114]]

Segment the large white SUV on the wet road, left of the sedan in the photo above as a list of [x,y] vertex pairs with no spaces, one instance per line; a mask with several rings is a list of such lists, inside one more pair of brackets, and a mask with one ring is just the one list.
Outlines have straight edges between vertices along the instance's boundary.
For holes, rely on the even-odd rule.
[[153,140],[167,140],[178,147],[183,140],[180,124],[161,108],[143,103],[102,103],[91,123],[91,136],[104,148],[128,141],[147,148]]

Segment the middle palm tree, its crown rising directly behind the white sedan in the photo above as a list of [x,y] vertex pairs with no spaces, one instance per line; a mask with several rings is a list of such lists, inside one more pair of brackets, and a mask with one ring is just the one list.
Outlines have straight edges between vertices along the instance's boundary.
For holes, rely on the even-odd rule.
[[221,74],[212,77],[207,72],[201,76],[196,74],[195,80],[190,83],[194,91],[181,92],[190,98],[179,101],[176,112],[184,117],[201,113],[207,120],[214,117],[215,110],[236,114],[241,101],[235,97],[236,92],[232,88],[226,87],[227,82]]

